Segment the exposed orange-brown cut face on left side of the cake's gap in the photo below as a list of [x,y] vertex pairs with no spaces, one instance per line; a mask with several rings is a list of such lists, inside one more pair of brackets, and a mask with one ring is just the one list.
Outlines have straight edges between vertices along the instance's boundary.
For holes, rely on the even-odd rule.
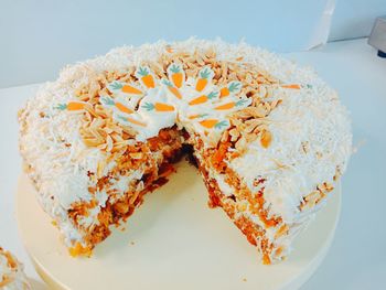
[[[119,225],[126,221],[143,202],[143,195],[163,185],[167,176],[174,172],[173,163],[182,157],[182,137],[176,128],[162,129],[157,137],[147,142],[128,146],[121,157],[116,159],[116,167],[97,179],[92,194],[107,192],[108,198],[97,216],[89,217],[98,204],[92,200],[73,205],[68,216],[77,227],[85,227],[84,241],[71,247],[71,254],[89,255],[94,245],[104,240],[110,234],[110,225]],[[140,173],[136,173],[140,171]],[[89,173],[93,178],[94,173]],[[96,218],[96,219],[95,219]],[[92,225],[92,226],[90,226]]]

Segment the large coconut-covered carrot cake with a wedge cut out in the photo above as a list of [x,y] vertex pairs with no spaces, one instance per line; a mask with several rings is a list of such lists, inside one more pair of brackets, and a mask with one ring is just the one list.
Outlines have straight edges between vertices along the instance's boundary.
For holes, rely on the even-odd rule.
[[19,121],[25,172],[73,256],[90,255],[187,152],[208,205],[264,264],[282,260],[352,150],[346,109],[311,68],[219,40],[124,46],[67,66]]

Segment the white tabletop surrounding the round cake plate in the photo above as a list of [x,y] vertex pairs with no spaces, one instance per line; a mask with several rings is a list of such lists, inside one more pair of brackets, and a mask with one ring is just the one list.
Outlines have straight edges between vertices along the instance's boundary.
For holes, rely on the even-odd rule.
[[[386,58],[377,57],[364,39],[286,56],[315,67],[340,92],[352,112],[358,148],[343,179],[342,216],[332,248],[302,289],[385,288]],[[14,253],[36,280],[18,235],[14,191],[21,171],[17,111],[37,86],[0,89],[0,245]]]

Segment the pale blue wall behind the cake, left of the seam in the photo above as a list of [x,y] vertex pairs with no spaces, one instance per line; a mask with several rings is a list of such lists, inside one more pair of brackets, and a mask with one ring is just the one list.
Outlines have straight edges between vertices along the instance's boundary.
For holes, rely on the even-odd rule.
[[278,52],[305,50],[329,29],[320,24],[328,2],[0,0],[0,87],[54,79],[67,63],[159,39],[244,37]]

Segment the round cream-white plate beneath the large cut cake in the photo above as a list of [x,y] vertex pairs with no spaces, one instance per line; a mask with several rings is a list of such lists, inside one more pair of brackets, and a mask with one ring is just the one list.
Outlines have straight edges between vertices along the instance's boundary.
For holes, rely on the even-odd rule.
[[264,266],[222,208],[208,208],[197,170],[185,161],[176,168],[169,183],[144,197],[126,229],[115,228],[90,258],[68,256],[21,175],[18,223],[37,272],[54,289],[297,289],[324,258],[340,215],[340,189],[297,238],[291,256]]

